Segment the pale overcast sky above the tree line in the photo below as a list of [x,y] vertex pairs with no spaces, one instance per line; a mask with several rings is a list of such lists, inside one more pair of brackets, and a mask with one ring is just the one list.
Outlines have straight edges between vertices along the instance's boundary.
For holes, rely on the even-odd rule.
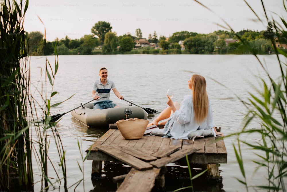
[[[246,0],[263,20],[261,0]],[[263,0],[264,1],[264,0]],[[24,20],[24,30],[40,31],[46,39],[54,41],[65,38],[80,39],[85,34],[91,34],[91,28],[98,21],[111,24],[112,31],[117,36],[130,32],[135,36],[135,30],[140,28],[143,38],[149,34],[158,37],[169,37],[174,32],[189,31],[208,34],[215,30],[225,30],[220,27],[226,21],[236,32],[243,29],[265,30],[264,24],[256,20],[256,16],[243,0],[199,0],[212,9],[208,11],[192,0],[29,0],[29,7]],[[283,0],[265,0],[267,14],[275,12],[287,18],[284,12]],[[44,25],[38,19],[39,16]],[[273,13],[273,16],[278,19]],[[217,23],[219,25],[217,25]]]

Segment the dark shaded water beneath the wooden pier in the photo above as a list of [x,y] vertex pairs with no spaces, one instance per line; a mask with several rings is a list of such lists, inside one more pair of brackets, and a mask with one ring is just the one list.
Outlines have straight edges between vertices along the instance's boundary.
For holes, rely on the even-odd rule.
[[[174,165],[174,166],[172,166]],[[191,175],[195,176],[199,174],[205,168],[200,165],[193,165],[194,167],[191,169]],[[113,182],[113,177],[127,174],[131,170],[131,166],[125,166],[125,164],[117,161],[108,161],[103,165],[103,170],[101,175],[92,175],[91,181],[93,183],[94,189],[90,190],[90,192],[94,191],[116,191],[119,187],[119,183]],[[166,166],[165,173],[165,186],[168,191],[173,191],[179,189],[181,187],[190,186],[190,176],[189,171],[187,169],[187,164],[176,162],[175,164],[170,164],[170,166]],[[224,192],[222,177],[213,178],[212,176],[208,176],[206,173],[195,178],[193,180],[193,190],[194,191],[212,191],[212,192]],[[145,191],[145,189],[138,189],[139,191]],[[156,182],[155,186],[152,189],[152,192],[162,191],[158,188]],[[191,191],[191,188],[181,190],[181,191]]]

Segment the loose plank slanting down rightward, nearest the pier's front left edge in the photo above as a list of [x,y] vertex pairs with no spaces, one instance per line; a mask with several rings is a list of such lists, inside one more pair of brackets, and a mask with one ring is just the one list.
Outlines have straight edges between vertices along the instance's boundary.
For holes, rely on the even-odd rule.
[[117,160],[121,162],[131,165],[132,167],[138,170],[152,169],[152,166],[148,164],[147,162],[144,162],[142,160],[139,160],[138,158],[135,158],[132,155],[124,153],[123,151],[116,149],[115,147],[111,145],[100,145],[100,146],[97,146],[97,149],[103,151],[104,153],[107,153],[108,155],[116,158]]

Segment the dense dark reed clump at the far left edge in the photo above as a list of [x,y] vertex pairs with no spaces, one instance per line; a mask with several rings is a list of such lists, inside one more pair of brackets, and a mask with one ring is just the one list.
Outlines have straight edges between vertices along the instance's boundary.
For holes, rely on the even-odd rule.
[[1,1],[0,12],[0,189],[33,183],[29,136],[29,72],[23,28],[28,1]]

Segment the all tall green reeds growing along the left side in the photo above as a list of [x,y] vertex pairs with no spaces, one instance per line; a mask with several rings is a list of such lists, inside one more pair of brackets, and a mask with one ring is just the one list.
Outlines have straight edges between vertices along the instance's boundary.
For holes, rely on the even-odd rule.
[[[58,92],[53,91],[55,75],[58,70],[58,57],[55,50],[55,66],[48,59],[41,72],[40,84],[30,82],[30,63],[27,51],[29,39],[25,39],[24,16],[28,0],[18,4],[16,1],[2,0],[0,12],[0,190],[14,191],[31,187],[33,181],[32,155],[39,165],[42,190],[64,180],[67,191],[65,151],[60,135],[51,119],[50,110],[62,102],[51,104],[51,98]],[[45,32],[46,39],[46,32]],[[44,40],[45,42],[45,40]],[[49,85],[47,85],[47,82]],[[31,93],[31,88],[34,92]],[[51,95],[46,92],[51,88]],[[42,101],[37,101],[35,93]],[[39,97],[38,97],[39,98]],[[39,111],[42,113],[39,116]],[[46,121],[39,121],[44,118]],[[32,130],[34,128],[34,130]],[[32,131],[36,137],[32,138]],[[52,133],[52,134],[51,134]],[[57,147],[63,176],[48,155],[50,142]],[[48,177],[48,165],[53,166],[57,180]],[[31,188],[29,188],[30,190]]]

